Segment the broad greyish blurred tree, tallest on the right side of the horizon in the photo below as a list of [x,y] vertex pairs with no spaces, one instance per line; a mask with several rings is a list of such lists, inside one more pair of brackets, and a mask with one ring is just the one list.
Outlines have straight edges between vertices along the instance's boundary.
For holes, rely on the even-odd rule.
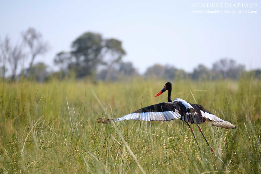
[[212,65],[212,72],[221,74],[222,78],[238,79],[243,71],[245,71],[245,66],[236,64],[233,59],[224,58]]

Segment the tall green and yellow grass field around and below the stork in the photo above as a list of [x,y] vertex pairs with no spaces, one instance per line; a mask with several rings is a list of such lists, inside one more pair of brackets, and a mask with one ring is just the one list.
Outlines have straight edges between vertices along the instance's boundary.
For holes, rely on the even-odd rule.
[[172,82],[172,100],[201,104],[237,126],[201,125],[219,158],[193,124],[201,154],[181,120],[96,122],[167,102],[167,92],[154,98],[166,82],[1,82],[0,173],[261,172],[260,79]]

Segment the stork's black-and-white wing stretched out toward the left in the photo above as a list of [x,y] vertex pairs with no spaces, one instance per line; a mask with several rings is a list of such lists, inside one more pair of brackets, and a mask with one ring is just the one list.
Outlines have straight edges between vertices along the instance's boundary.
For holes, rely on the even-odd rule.
[[178,118],[181,118],[179,106],[175,102],[168,102],[150,105],[117,119],[99,118],[97,121],[106,124],[130,119],[144,121],[170,121]]

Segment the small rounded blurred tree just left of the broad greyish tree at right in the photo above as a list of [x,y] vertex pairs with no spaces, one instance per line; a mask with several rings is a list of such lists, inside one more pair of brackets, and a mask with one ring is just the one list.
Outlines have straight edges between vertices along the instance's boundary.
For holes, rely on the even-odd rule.
[[203,64],[199,64],[192,73],[192,79],[194,80],[210,80],[211,71]]

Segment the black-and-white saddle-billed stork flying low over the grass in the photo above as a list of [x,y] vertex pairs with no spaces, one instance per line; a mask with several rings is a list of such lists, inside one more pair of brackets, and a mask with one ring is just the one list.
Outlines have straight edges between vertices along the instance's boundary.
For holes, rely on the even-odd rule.
[[[154,105],[150,105],[144,108],[141,108],[133,113],[125,115],[123,117],[117,119],[106,119],[106,118],[98,118],[97,122],[107,124],[116,121],[123,121],[123,120],[144,120],[144,121],[170,121],[174,119],[181,119],[186,122],[189,129],[191,130],[195,141],[198,145],[197,139],[194,134],[194,130],[191,128],[189,123],[195,123],[197,126],[198,124],[202,124],[206,121],[210,122],[212,126],[222,127],[226,129],[234,129],[236,128],[235,125],[231,124],[228,121],[224,121],[218,118],[216,115],[213,115],[211,112],[206,110],[203,106],[199,104],[192,104],[182,100],[180,98],[176,98],[175,100],[171,100],[171,90],[172,84],[170,82],[166,83],[164,88],[155,96],[161,95],[166,90],[169,91],[168,94],[168,102],[158,103]],[[207,142],[201,128],[198,126],[200,133],[202,134],[203,138],[205,139],[207,145],[210,147],[211,151],[215,154],[216,152]],[[198,145],[199,151],[200,147]]]

